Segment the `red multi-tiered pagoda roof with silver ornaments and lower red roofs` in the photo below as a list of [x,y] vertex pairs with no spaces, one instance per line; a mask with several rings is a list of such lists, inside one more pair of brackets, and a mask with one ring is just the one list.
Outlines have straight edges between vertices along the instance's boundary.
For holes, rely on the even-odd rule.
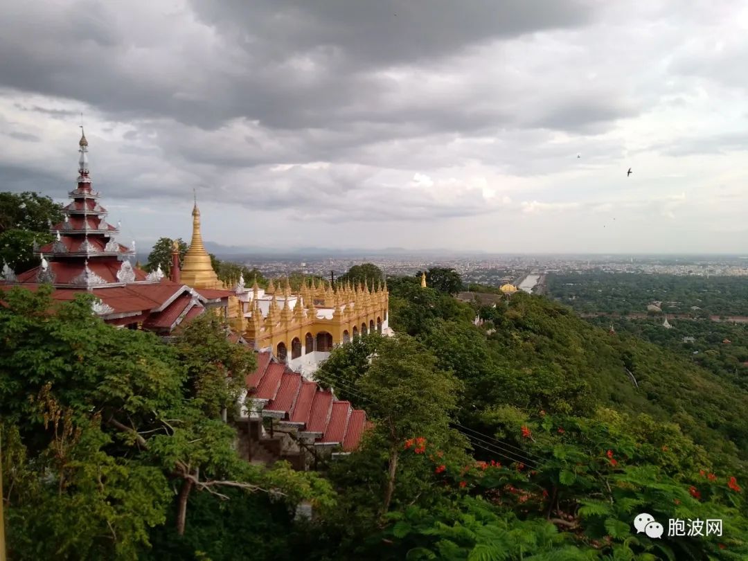
[[[35,247],[39,265],[18,275],[4,267],[0,287],[20,284],[34,290],[40,284],[55,287],[55,300],[71,300],[79,292],[96,296],[94,311],[106,322],[141,326],[168,333],[206,307],[225,307],[231,292],[192,289],[171,281],[159,269],[147,273],[132,266],[132,247],[117,241],[120,226],[106,221],[107,210],[93,190],[88,164],[88,140],[79,141],[77,187],[68,193],[64,219],[50,224],[54,240]],[[1,302],[0,302],[1,303]]]

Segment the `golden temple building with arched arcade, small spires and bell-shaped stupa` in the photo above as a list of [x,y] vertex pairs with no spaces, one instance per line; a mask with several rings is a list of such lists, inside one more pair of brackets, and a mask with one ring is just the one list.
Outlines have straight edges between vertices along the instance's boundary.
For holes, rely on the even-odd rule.
[[[172,268],[174,271],[174,268]],[[351,284],[304,282],[293,292],[288,279],[270,281],[266,289],[245,285],[224,286],[212,269],[200,233],[197,201],[192,210],[192,240],[178,273],[193,289],[230,288],[227,319],[237,333],[258,352],[272,352],[295,372],[308,375],[328,358],[334,346],[373,333],[390,335],[390,295],[387,282]],[[281,286],[282,285],[282,286]]]

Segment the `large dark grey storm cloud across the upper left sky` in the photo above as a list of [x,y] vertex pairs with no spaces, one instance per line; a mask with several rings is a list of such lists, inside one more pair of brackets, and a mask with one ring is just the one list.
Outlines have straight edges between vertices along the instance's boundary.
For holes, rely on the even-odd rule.
[[[91,1],[6,7],[0,80],[19,91],[80,99],[123,120],[169,116],[206,129],[235,117],[286,129],[330,126],[336,116],[352,117],[352,103],[372,109],[387,88],[367,75],[373,70],[582,25],[591,14],[572,0],[230,1],[194,8],[212,28],[165,29],[137,3],[129,14]],[[485,115],[465,118],[477,124]]]

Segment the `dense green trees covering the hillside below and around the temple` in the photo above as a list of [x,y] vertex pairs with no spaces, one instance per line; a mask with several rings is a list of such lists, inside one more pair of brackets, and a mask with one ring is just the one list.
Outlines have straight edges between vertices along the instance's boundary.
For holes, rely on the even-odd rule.
[[[85,296],[49,316],[43,291],[6,295],[10,558],[748,556],[746,390],[547,298],[476,309],[417,278],[387,283],[398,335],[340,346],[318,373],[373,429],[319,473],[236,461],[221,410],[239,382],[220,380],[253,358],[215,322],[167,345],[102,324]],[[640,512],[661,539],[637,533]],[[723,533],[667,536],[669,518]]]

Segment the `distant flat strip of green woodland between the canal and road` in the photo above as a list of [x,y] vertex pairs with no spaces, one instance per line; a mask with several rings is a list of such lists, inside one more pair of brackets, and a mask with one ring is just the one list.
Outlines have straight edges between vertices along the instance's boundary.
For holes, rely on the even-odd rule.
[[581,313],[646,313],[661,302],[665,313],[693,317],[748,316],[744,277],[696,277],[635,273],[549,274],[548,295]]

